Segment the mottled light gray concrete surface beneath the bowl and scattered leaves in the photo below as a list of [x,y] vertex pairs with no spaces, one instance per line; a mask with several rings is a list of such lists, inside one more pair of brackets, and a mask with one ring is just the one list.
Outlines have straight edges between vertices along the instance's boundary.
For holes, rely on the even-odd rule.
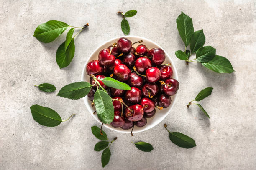
[[[13,1],[0,0],[0,170],[98,170],[101,152],[93,150],[98,140],[90,127],[100,126],[87,112],[83,100],[56,96],[57,91],[80,80],[84,62],[95,48],[113,37],[122,36],[118,10],[138,10],[128,18],[130,35],[161,45],[174,60],[180,81],[179,95],[171,113],[156,127],[133,137],[104,129],[112,156],[107,170],[255,170],[256,169],[256,2],[254,0],[111,0],[99,1]],[[195,30],[203,28],[206,43],[227,57],[236,72],[217,74],[200,64],[185,65],[174,52],[184,50],[176,28],[183,11],[193,19]],[[89,23],[75,41],[72,63],[59,69],[57,47],[65,36],[43,44],[33,37],[36,26],[48,20],[70,25]],[[34,84],[56,85],[52,94]],[[205,87],[212,95],[199,108],[186,107]],[[29,107],[44,105],[66,118],[55,128],[35,122]],[[195,139],[192,149],[170,142],[163,124]],[[154,150],[143,153],[131,141],[151,143]]]

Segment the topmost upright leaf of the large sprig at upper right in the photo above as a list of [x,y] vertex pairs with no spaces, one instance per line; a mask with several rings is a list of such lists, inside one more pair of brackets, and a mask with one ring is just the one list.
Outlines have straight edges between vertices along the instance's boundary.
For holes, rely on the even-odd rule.
[[179,35],[187,47],[190,44],[191,35],[194,33],[192,19],[182,12],[176,19],[176,24]]

